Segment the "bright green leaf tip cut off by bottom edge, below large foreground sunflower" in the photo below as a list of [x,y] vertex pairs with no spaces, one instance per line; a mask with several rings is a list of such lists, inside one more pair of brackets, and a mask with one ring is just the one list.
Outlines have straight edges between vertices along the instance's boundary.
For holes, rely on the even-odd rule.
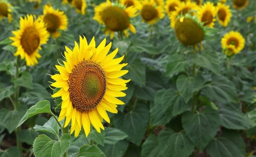
[[88,144],[85,144],[81,146],[79,153],[77,154],[77,157],[106,157],[101,150],[93,145],[90,146]]

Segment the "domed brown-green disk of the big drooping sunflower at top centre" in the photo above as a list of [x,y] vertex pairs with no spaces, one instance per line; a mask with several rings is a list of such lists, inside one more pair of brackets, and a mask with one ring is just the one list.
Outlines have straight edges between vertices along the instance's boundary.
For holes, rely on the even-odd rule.
[[111,31],[123,31],[127,29],[130,24],[127,13],[124,9],[117,6],[106,8],[102,12],[102,20]]

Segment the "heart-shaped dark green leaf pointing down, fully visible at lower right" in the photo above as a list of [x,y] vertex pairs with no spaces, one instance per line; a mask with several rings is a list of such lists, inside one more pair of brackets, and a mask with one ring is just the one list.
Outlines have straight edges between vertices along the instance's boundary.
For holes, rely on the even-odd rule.
[[189,139],[199,151],[202,151],[218,131],[219,114],[211,108],[203,112],[197,111],[196,114],[187,111],[182,115],[182,124]]

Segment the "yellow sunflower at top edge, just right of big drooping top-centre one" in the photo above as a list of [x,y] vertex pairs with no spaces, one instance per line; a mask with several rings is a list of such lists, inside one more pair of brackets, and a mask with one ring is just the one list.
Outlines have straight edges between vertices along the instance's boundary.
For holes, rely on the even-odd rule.
[[165,16],[163,6],[156,6],[154,0],[143,0],[138,7],[142,21],[148,24],[154,24]]

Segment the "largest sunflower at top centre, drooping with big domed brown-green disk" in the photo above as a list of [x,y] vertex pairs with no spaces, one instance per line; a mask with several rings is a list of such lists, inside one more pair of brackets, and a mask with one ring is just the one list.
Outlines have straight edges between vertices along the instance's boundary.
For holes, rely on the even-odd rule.
[[128,28],[132,33],[136,33],[135,27],[130,23],[130,18],[135,17],[137,10],[135,7],[124,7],[121,4],[115,4],[107,0],[95,7],[94,20],[106,26],[105,35],[110,34],[112,39],[115,32],[122,31],[124,35],[128,35]]

